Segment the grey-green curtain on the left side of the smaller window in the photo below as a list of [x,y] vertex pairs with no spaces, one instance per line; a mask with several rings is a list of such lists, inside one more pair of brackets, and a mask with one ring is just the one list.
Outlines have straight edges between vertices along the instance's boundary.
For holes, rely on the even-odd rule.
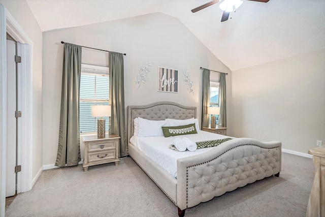
[[203,69],[202,127],[209,127],[210,70]]

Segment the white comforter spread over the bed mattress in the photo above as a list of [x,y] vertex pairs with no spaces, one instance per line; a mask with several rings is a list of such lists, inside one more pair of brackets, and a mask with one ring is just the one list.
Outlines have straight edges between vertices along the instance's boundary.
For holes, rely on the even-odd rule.
[[173,144],[175,138],[186,137],[193,142],[224,139],[229,136],[223,136],[220,134],[208,133],[205,131],[198,131],[198,134],[188,134],[182,136],[172,136],[165,138],[164,136],[152,136],[152,137],[131,137],[131,143],[141,150],[146,156],[156,162],[158,165],[166,169],[171,175],[177,178],[177,159],[186,158],[201,154],[211,150],[210,148],[201,148],[196,151],[175,151],[169,148],[169,145]]

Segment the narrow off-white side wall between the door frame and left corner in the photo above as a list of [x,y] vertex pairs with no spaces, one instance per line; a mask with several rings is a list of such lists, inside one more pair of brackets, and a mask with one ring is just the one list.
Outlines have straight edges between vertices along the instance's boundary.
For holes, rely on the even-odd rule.
[[[32,132],[32,158],[30,160],[31,164],[31,174],[28,174],[31,180],[36,180],[39,172],[42,169],[42,155],[43,155],[43,145],[42,145],[42,31],[38,22],[32,15],[28,5],[25,1],[9,1],[0,0],[0,3],[5,6],[9,13],[13,16],[18,25],[23,29],[24,33],[32,41],[32,117],[31,121],[31,132]],[[23,112],[23,111],[22,111]],[[4,126],[2,126],[4,127]],[[6,145],[6,144],[2,144]],[[22,165],[22,170],[24,165]],[[6,180],[1,180],[1,182]],[[4,207],[1,207],[2,209]]]

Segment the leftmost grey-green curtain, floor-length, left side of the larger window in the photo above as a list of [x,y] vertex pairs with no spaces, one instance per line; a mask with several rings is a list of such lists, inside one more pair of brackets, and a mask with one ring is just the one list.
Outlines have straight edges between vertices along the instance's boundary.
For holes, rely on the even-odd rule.
[[80,158],[79,88],[81,46],[64,43],[59,142],[55,166],[76,166]]

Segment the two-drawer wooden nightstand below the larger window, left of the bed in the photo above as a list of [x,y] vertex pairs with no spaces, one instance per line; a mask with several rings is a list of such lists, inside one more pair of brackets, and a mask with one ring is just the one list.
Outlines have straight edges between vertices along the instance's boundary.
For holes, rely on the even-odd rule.
[[110,134],[104,139],[98,139],[96,136],[85,136],[84,142],[84,159],[82,167],[88,171],[88,167],[115,162],[118,165],[118,141],[120,137]]

